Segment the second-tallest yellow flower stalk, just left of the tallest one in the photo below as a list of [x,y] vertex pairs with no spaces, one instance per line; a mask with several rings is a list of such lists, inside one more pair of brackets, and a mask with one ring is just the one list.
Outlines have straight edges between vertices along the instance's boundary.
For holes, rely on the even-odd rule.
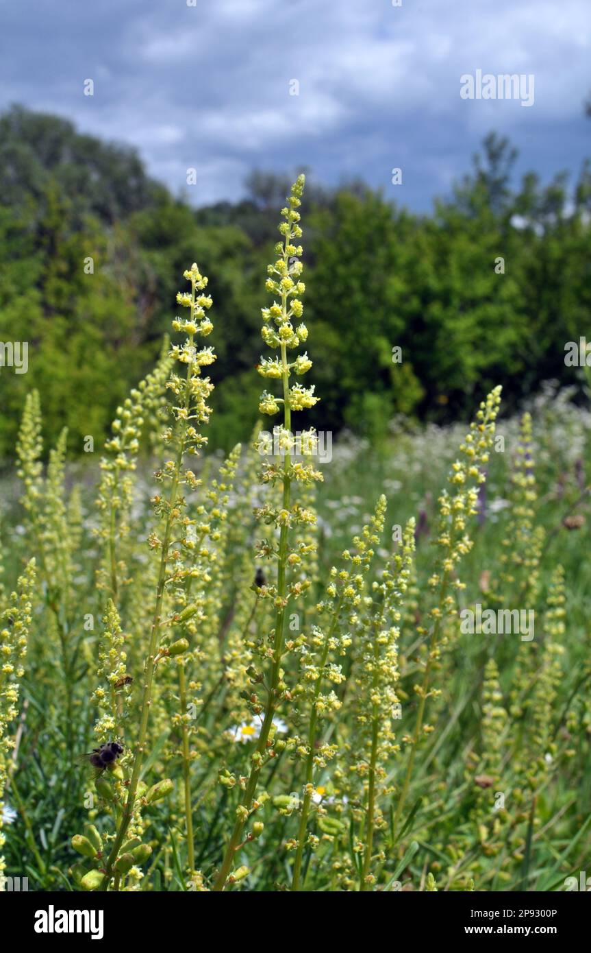
[[[209,408],[206,401],[213,390],[213,384],[208,377],[202,375],[202,368],[211,364],[215,360],[215,355],[212,349],[208,347],[198,351],[194,340],[196,335],[207,336],[213,330],[213,325],[206,314],[212,302],[211,298],[204,294],[207,288],[207,278],[199,273],[195,263],[184,275],[187,281],[190,281],[191,290],[190,293],[177,294],[177,301],[189,310],[189,315],[185,319],[175,318],[172,327],[175,331],[184,332],[187,338],[182,345],[173,345],[170,355],[175,361],[187,367],[187,373],[184,376],[173,373],[167,382],[167,388],[173,395],[171,413],[174,417],[174,423],[167,428],[165,440],[171,448],[173,456],[155,474],[156,479],[161,483],[167,483],[169,489],[166,497],[157,494],[152,499],[154,512],[161,520],[163,531],[162,537],[154,532],[150,534],[148,539],[150,549],[160,553],[160,559],[148,654],[144,666],[144,693],[140,727],[131,766],[128,798],[108,855],[105,877],[101,884],[103,889],[108,888],[114,864],[117,861],[133,816],[138,783],[146,753],[152,681],[156,665],[160,659],[176,654],[175,645],[168,644],[167,633],[163,626],[163,613],[167,587],[171,581],[178,582],[179,580],[178,571],[171,576],[169,563],[173,533],[178,527],[182,531],[187,521],[187,517],[183,515],[186,500],[181,493],[181,487],[187,486],[189,489],[193,489],[197,484],[194,473],[185,467],[184,460],[186,455],[197,455],[199,449],[207,443],[207,437],[200,435],[197,428],[207,423],[209,418]],[[180,648],[183,649],[183,647],[183,644],[181,644]]]

